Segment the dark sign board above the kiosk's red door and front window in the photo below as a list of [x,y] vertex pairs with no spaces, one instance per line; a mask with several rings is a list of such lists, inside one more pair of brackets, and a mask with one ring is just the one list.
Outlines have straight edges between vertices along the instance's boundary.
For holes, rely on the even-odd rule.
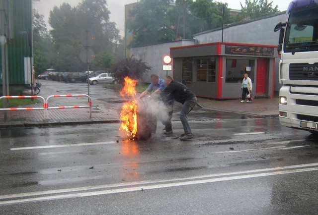
[[274,56],[274,48],[258,46],[225,45],[225,54]]

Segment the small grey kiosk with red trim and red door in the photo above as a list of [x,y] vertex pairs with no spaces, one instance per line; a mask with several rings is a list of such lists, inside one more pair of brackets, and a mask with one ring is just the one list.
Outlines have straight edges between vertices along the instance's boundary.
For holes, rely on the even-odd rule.
[[173,78],[198,97],[239,98],[244,73],[256,97],[274,96],[277,46],[211,43],[170,48]]

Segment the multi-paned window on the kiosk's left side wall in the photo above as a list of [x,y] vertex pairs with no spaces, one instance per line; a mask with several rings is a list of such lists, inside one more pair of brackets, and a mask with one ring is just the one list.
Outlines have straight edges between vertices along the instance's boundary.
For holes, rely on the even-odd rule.
[[216,58],[196,59],[197,81],[215,82]]

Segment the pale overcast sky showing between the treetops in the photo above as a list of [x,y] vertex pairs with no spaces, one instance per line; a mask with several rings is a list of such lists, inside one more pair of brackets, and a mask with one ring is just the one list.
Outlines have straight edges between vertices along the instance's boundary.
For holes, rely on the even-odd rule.
[[[138,0],[107,0],[108,9],[110,10],[110,21],[117,24],[117,28],[120,30],[120,35],[124,35],[124,5],[137,2]],[[245,0],[217,0],[224,3],[228,3],[232,9],[240,9],[239,2],[245,2]],[[269,0],[270,1],[270,0]],[[289,2],[291,0],[273,0],[273,5],[278,5],[279,10],[287,10]],[[45,21],[48,20],[50,10],[55,5],[59,6],[63,2],[69,3],[71,6],[76,6],[81,0],[40,0],[33,3],[33,7],[44,15]],[[49,26],[48,26],[49,27]],[[49,27],[50,28],[50,27]]]

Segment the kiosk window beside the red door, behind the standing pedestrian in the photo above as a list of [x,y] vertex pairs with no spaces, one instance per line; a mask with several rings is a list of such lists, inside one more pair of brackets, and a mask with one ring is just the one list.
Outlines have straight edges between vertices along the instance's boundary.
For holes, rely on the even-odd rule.
[[254,83],[255,60],[254,59],[227,59],[226,83],[241,83],[244,73]]

